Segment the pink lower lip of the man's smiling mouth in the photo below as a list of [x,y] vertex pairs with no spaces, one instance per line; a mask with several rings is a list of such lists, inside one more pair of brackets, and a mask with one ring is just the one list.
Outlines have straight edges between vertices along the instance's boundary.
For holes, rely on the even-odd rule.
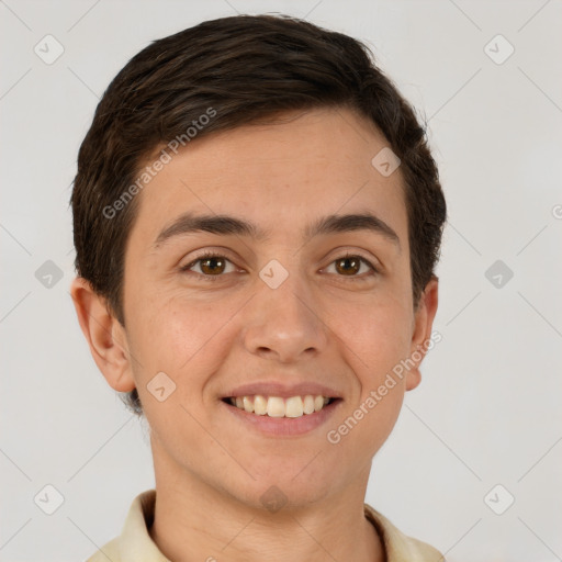
[[257,414],[250,414],[245,409],[221,401],[232,415],[268,437],[290,437],[307,434],[327,422],[341,402],[339,398],[335,400],[321,411],[314,414],[303,414],[301,417],[270,417],[268,415],[258,416]]

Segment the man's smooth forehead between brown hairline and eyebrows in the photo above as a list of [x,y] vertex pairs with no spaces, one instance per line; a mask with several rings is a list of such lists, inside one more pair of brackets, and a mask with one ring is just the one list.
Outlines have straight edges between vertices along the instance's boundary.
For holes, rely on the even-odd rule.
[[170,153],[139,193],[133,231],[154,240],[175,217],[195,212],[246,216],[270,234],[294,235],[296,223],[306,232],[304,223],[321,216],[371,211],[402,238],[400,169],[384,177],[372,165],[386,146],[373,125],[345,109],[291,112],[274,124],[195,138]]

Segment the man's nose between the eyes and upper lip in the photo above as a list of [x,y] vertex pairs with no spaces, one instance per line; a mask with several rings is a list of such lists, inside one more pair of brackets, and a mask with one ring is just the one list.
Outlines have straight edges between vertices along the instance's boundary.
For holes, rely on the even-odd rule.
[[305,282],[291,273],[277,289],[261,283],[246,308],[246,349],[281,363],[312,358],[325,349],[327,326]]

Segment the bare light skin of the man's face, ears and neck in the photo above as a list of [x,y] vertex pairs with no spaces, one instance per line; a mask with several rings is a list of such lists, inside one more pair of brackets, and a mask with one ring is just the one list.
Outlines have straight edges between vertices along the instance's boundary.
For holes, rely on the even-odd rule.
[[[293,112],[283,122],[194,139],[139,199],[125,257],[125,326],[82,280],[71,289],[81,328],[108,383],[136,387],[150,425],[157,502],[150,535],[176,562],[383,561],[363,501],[371,461],[389,437],[419,362],[337,445],[337,428],[401,360],[427,341],[437,311],[432,279],[412,297],[403,179],[371,159],[384,137],[349,110]],[[204,232],[155,244],[186,212],[252,221],[267,239]],[[400,245],[371,231],[303,239],[330,214],[369,211]],[[201,261],[229,261],[216,282]],[[338,267],[349,252],[366,263]],[[259,277],[272,259],[289,277],[271,289]],[[215,273],[216,278],[216,273]],[[422,352],[423,356],[423,352]],[[164,402],[148,392],[158,372],[175,381]],[[301,436],[250,430],[221,402],[257,381],[314,381],[342,401],[321,427]],[[268,510],[277,486],[286,504]]]

